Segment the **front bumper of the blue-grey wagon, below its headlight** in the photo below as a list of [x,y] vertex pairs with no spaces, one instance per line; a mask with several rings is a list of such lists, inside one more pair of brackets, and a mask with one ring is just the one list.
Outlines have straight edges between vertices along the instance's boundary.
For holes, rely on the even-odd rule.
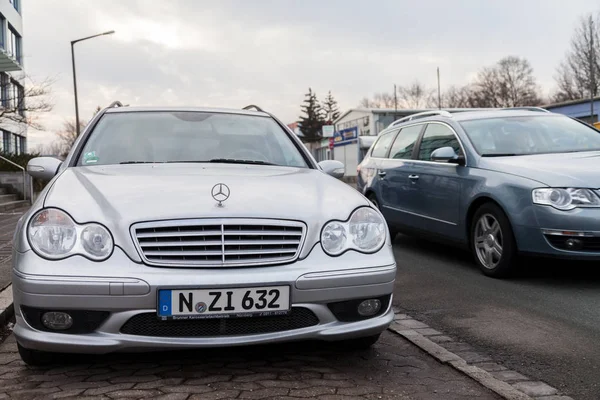
[[[517,247],[521,253],[578,260],[600,260],[600,247],[586,246],[581,250],[568,250],[559,246],[560,238],[577,236],[558,235],[560,232],[591,234],[600,242],[600,210],[577,208],[560,211],[549,206],[533,206],[531,218],[513,226]],[[545,234],[546,233],[546,234]],[[552,233],[548,235],[547,233]],[[554,243],[551,243],[551,240]],[[587,239],[586,239],[587,241]],[[561,248],[562,247],[562,248]]]

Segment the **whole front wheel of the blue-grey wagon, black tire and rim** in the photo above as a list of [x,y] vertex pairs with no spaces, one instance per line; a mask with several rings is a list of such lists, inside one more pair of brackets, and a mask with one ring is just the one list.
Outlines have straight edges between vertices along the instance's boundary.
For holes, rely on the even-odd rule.
[[517,244],[504,211],[494,203],[477,209],[471,222],[471,252],[481,271],[494,278],[506,278],[515,269]]

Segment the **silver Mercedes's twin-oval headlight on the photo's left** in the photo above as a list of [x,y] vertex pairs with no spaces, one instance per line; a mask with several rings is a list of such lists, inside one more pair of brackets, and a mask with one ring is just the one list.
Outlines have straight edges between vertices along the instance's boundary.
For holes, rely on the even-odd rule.
[[101,261],[110,256],[114,247],[108,229],[96,223],[77,224],[56,208],[37,212],[31,218],[27,237],[38,255],[52,260],[79,254]]

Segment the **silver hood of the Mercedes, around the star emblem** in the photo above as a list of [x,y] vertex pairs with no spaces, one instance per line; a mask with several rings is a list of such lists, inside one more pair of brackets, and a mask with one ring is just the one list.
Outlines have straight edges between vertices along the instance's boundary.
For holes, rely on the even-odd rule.
[[[222,207],[211,194],[218,183],[230,189]],[[129,233],[136,222],[184,218],[296,220],[307,225],[306,250],[319,240],[325,222],[345,220],[356,207],[369,204],[352,187],[319,170],[239,164],[68,168],[55,180],[44,201],[45,207],[65,210],[79,223],[106,225],[115,244],[136,261],[139,256]]]

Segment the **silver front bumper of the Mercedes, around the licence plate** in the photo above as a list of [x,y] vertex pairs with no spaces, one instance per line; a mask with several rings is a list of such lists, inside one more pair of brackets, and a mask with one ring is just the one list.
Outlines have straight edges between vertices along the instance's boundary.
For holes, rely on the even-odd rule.
[[[393,319],[391,300],[378,316],[341,322],[329,303],[391,295],[396,266],[389,246],[376,254],[348,252],[329,257],[315,246],[304,260],[256,268],[156,268],[132,262],[118,248],[97,263],[82,257],[46,261],[32,251],[15,253],[13,294],[17,324],[14,334],[26,348],[73,353],[108,353],[193,347],[236,346],[291,340],[343,340],[380,333]],[[47,271],[53,271],[48,275]],[[45,273],[43,273],[45,272]],[[121,333],[132,317],[156,313],[157,290],[163,287],[241,287],[290,285],[293,307],[318,318],[314,326],[252,335],[156,337]],[[34,329],[21,306],[46,310],[107,311],[92,333],[54,333]]]

